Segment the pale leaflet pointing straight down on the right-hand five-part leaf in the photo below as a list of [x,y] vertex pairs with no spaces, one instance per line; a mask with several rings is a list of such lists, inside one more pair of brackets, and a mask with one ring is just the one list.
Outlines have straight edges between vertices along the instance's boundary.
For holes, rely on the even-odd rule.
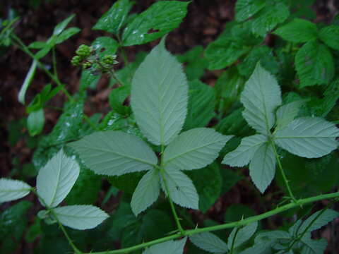
[[264,143],[256,150],[253,159],[249,163],[249,175],[261,193],[266,190],[274,178],[275,162],[272,145]]

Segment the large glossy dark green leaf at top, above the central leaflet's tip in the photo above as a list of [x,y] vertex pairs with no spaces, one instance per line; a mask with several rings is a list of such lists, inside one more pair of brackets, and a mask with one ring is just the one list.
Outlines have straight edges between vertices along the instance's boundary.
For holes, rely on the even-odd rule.
[[145,44],[177,28],[186,16],[189,2],[155,2],[126,25],[122,35],[124,46]]

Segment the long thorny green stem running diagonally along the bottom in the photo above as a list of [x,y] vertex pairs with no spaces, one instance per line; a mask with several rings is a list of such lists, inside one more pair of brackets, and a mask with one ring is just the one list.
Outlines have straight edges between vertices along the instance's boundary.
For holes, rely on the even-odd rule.
[[[208,226],[208,227],[203,228],[203,229],[186,230],[186,231],[184,231],[184,235],[191,236],[191,235],[199,234],[199,233],[203,233],[203,232],[217,231],[217,230],[222,230],[222,229],[230,229],[230,228],[233,228],[234,226],[246,226],[247,224],[251,224],[253,222],[258,222],[261,219],[266,219],[266,218],[271,217],[275,214],[279,214],[280,212],[285,212],[286,210],[290,210],[294,207],[299,207],[299,205],[305,205],[305,204],[308,204],[308,203],[311,203],[311,202],[316,202],[316,201],[319,201],[319,200],[338,198],[338,197],[339,197],[339,191],[336,192],[336,193],[317,195],[317,196],[314,196],[314,197],[311,197],[311,198],[303,198],[303,199],[297,200],[297,203],[290,202],[287,205],[275,208],[275,210],[271,210],[269,212],[265,212],[263,214],[259,214],[259,215],[253,216],[253,217],[248,217],[246,219],[242,219],[239,222],[230,222],[230,223],[221,224],[221,225],[217,225],[217,226]],[[92,253],[84,253],[84,254],[129,253],[133,250],[139,250],[141,248],[153,246],[154,244],[163,243],[165,241],[173,240],[173,239],[176,239],[176,238],[179,238],[179,237],[182,237],[182,234],[174,234],[172,236],[166,236],[166,237],[158,238],[154,241],[141,243],[141,244],[138,244],[136,246],[129,247],[129,248],[122,248],[120,250],[107,250],[107,251],[102,251],[102,252],[92,252]]]

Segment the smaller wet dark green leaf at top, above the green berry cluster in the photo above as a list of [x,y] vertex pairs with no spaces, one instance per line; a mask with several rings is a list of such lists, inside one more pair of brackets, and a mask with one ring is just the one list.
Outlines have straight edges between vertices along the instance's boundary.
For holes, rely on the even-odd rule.
[[126,23],[127,16],[133,4],[134,2],[129,0],[116,1],[112,7],[97,20],[93,30],[105,30],[106,32],[118,35],[119,30]]

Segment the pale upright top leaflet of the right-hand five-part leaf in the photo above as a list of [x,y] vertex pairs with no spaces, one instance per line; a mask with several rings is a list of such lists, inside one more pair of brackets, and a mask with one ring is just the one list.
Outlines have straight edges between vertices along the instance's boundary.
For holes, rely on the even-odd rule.
[[275,122],[275,108],[281,104],[281,92],[275,78],[260,63],[245,84],[241,102],[247,123],[259,133],[268,135]]

